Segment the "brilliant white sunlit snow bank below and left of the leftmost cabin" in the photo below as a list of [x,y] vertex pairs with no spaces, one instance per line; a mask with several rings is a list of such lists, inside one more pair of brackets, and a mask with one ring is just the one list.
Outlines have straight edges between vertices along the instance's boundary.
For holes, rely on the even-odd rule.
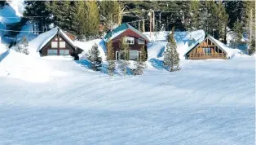
[[63,76],[52,68],[51,62],[24,55],[13,50],[0,55],[0,77],[18,78],[23,81],[45,82],[51,77]]

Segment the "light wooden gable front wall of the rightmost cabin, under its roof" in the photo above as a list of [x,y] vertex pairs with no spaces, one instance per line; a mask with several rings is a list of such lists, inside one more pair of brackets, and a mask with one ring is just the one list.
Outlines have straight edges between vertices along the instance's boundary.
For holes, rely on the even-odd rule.
[[188,59],[227,59],[227,54],[206,38],[188,53]]

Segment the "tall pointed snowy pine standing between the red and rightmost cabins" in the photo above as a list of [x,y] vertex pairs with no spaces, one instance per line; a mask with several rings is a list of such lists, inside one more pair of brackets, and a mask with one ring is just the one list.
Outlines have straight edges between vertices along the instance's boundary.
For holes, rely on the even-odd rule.
[[179,70],[179,53],[174,39],[174,27],[168,37],[166,48],[164,52],[164,67],[170,72]]

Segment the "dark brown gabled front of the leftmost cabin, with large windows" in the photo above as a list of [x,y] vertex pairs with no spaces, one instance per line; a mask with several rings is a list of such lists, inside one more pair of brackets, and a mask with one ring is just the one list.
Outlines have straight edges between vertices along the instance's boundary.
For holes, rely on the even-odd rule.
[[[56,33],[51,34],[51,39],[48,39],[47,42],[43,42],[44,44],[39,48],[39,52],[41,56],[48,55],[78,55],[82,53],[82,49],[77,47],[73,43],[73,37],[68,37],[66,33],[64,33],[60,28],[56,30],[53,29],[51,31],[56,31]],[[70,35],[71,36],[71,35]]]

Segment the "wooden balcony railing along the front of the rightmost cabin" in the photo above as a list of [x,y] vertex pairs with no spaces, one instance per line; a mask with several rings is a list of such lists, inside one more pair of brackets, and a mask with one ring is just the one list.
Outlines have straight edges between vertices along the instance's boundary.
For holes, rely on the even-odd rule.
[[224,53],[192,53],[189,54],[188,59],[227,59],[226,54]]

